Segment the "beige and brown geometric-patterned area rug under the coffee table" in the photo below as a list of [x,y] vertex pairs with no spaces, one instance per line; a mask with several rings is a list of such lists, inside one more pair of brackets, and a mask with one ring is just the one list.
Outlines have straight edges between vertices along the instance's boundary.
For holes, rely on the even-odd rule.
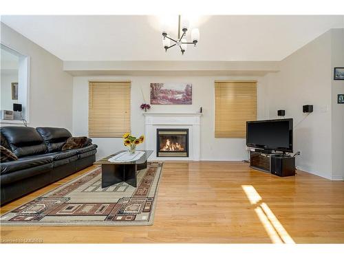
[[101,167],[1,216],[1,226],[145,226],[153,224],[163,162],[138,171],[138,187],[102,189]]

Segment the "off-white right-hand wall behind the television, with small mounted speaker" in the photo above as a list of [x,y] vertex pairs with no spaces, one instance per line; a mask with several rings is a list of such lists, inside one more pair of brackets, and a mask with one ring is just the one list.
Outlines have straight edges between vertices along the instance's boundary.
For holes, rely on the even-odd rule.
[[[286,109],[286,118],[294,118],[294,151],[301,151],[297,158],[299,168],[324,178],[340,179],[344,113],[343,106],[334,104],[334,95],[343,93],[343,88],[335,87],[340,83],[332,79],[332,58],[343,55],[343,35],[340,43],[338,32],[337,38],[334,33],[326,32],[283,59],[281,71],[268,74],[264,82],[269,118],[276,118],[278,109]],[[337,59],[336,65],[343,66],[343,59]],[[314,105],[314,111],[306,116],[302,106],[308,104]]]

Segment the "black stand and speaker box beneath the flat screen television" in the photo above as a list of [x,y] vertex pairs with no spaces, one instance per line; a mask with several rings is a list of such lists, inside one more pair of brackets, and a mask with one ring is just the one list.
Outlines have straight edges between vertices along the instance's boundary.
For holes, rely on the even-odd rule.
[[279,176],[295,175],[295,158],[285,152],[255,149],[250,150],[250,167]]

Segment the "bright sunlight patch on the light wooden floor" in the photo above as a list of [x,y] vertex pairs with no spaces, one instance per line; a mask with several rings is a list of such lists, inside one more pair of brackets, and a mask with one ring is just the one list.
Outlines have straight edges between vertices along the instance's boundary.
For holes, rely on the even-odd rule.
[[250,204],[255,204],[255,212],[257,213],[261,224],[263,224],[266,233],[268,233],[272,243],[274,244],[294,244],[294,240],[288,234],[287,230],[282,226],[281,222],[277,219],[274,213],[272,213],[268,204],[261,202],[263,200],[255,187],[251,185],[243,185],[241,188],[246,193]]

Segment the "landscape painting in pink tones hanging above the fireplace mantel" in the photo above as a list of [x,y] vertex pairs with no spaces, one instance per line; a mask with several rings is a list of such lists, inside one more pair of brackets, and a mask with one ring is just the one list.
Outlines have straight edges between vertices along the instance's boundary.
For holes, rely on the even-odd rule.
[[191,83],[151,83],[152,105],[191,105]]

